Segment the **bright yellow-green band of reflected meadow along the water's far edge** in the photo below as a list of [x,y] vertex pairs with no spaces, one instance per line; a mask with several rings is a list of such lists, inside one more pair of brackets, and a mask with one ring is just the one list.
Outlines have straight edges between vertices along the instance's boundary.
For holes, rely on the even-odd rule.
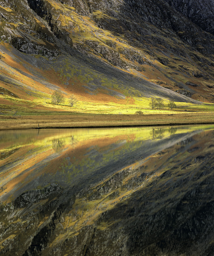
[[[90,144],[96,145],[94,139],[105,140],[104,144],[110,144],[112,138],[120,138],[120,140],[132,141],[132,140],[149,140],[160,139],[168,137],[174,133],[191,132],[195,129],[201,129],[212,127],[212,125],[197,125],[184,127],[161,127],[161,128],[145,128],[145,127],[133,127],[133,128],[107,128],[107,129],[72,129],[72,130],[28,130],[28,131],[1,131],[0,132],[0,151],[9,152],[11,149],[20,147],[26,147],[34,145],[35,148],[51,149],[53,140],[63,140],[63,144],[72,146],[74,148],[79,145]],[[106,139],[108,137],[108,140]],[[62,147],[62,148],[65,148]],[[35,149],[36,150],[36,149]]]

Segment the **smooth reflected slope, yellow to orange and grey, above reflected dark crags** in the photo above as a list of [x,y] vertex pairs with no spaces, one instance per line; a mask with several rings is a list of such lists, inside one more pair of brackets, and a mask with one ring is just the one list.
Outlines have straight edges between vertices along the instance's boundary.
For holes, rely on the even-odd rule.
[[160,147],[167,147],[170,145],[168,138],[173,134],[182,137],[182,133],[185,136],[211,127],[42,130],[39,134],[37,131],[10,132],[7,147],[0,152],[5,156],[1,160],[1,186],[6,188],[1,195],[12,194],[14,189],[17,192],[13,196],[20,193],[19,189],[23,190],[20,182],[26,189],[28,184],[35,187],[37,183],[32,184],[32,181],[40,182],[42,176],[46,177],[44,180],[60,180],[63,185],[89,176],[96,180],[102,172],[110,173],[134,164]]

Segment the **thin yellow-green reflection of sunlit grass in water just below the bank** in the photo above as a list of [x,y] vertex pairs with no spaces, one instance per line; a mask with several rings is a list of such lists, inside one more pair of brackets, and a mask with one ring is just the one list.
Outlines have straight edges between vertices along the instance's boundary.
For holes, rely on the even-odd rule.
[[[164,137],[172,134],[172,129],[176,129],[177,133],[191,132],[198,129],[211,129],[212,124],[207,125],[186,125],[161,127]],[[158,133],[158,127],[131,127],[131,128],[99,128],[99,129],[43,129],[43,130],[16,130],[16,131],[0,131],[0,149],[14,148],[25,145],[45,146],[48,141],[55,138],[63,138],[66,144],[70,144],[71,137],[74,136],[78,142],[94,140],[108,136],[124,136],[124,140],[147,140],[153,139],[153,129]]]

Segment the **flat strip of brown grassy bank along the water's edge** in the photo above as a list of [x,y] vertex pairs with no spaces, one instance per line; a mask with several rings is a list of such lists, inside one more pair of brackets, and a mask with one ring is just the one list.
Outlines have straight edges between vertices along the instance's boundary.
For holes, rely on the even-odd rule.
[[214,123],[213,113],[153,115],[64,114],[45,116],[0,116],[0,130],[209,123]]

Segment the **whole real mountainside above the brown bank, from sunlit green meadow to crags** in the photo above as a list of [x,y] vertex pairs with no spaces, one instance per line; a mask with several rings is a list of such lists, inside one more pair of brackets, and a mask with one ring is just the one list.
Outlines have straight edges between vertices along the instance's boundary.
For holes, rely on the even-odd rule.
[[[212,110],[204,103],[214,101],[213,31],[174,5],[1,0],[0,114],[134,114],[152,96],[165,110],[169,100],[180,111]],[[55,90],[66,99],[59,106]]]

